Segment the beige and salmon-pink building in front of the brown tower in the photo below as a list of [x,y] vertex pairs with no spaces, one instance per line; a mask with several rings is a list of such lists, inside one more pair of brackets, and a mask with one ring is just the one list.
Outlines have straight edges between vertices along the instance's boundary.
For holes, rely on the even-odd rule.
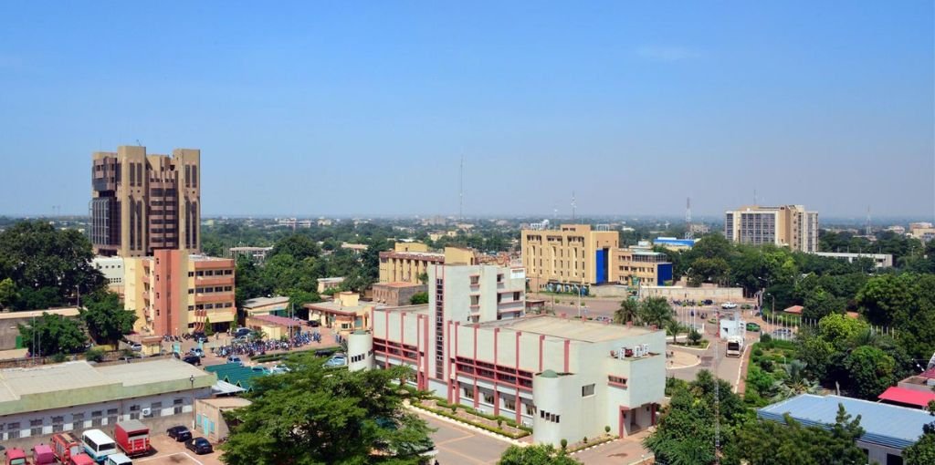
[[134,331],[162,336],[205,331],[207,323],[213,331],[234,326],[233,259],[157,249],[153,257],[126,259],[124,267],[125,307],[138,317]]

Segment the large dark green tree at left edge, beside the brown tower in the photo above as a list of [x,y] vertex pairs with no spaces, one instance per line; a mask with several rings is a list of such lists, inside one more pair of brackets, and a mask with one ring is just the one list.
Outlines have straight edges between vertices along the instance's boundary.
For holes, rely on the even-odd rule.
[[6,304],[50,308],[69,302],[79,289],[101,289],[104,276],[91,266],[93,258],[91,243],[76,230],[57,230],[40,220],[14,224],[0,233],[0,281],[9,278],[18,291],[12,297],[19,297]]

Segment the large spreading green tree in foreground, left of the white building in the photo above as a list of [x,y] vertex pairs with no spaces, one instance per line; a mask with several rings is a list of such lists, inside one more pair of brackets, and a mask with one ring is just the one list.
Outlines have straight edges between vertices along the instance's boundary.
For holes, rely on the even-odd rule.
[[252,404],[225,415],[237,426],[224,463],[416,464],[432,447],[424,420],[404,408],[412,394],[396,385],[409,369],[333,370],[310,354],[286,364],[290,373],[255,378]]

